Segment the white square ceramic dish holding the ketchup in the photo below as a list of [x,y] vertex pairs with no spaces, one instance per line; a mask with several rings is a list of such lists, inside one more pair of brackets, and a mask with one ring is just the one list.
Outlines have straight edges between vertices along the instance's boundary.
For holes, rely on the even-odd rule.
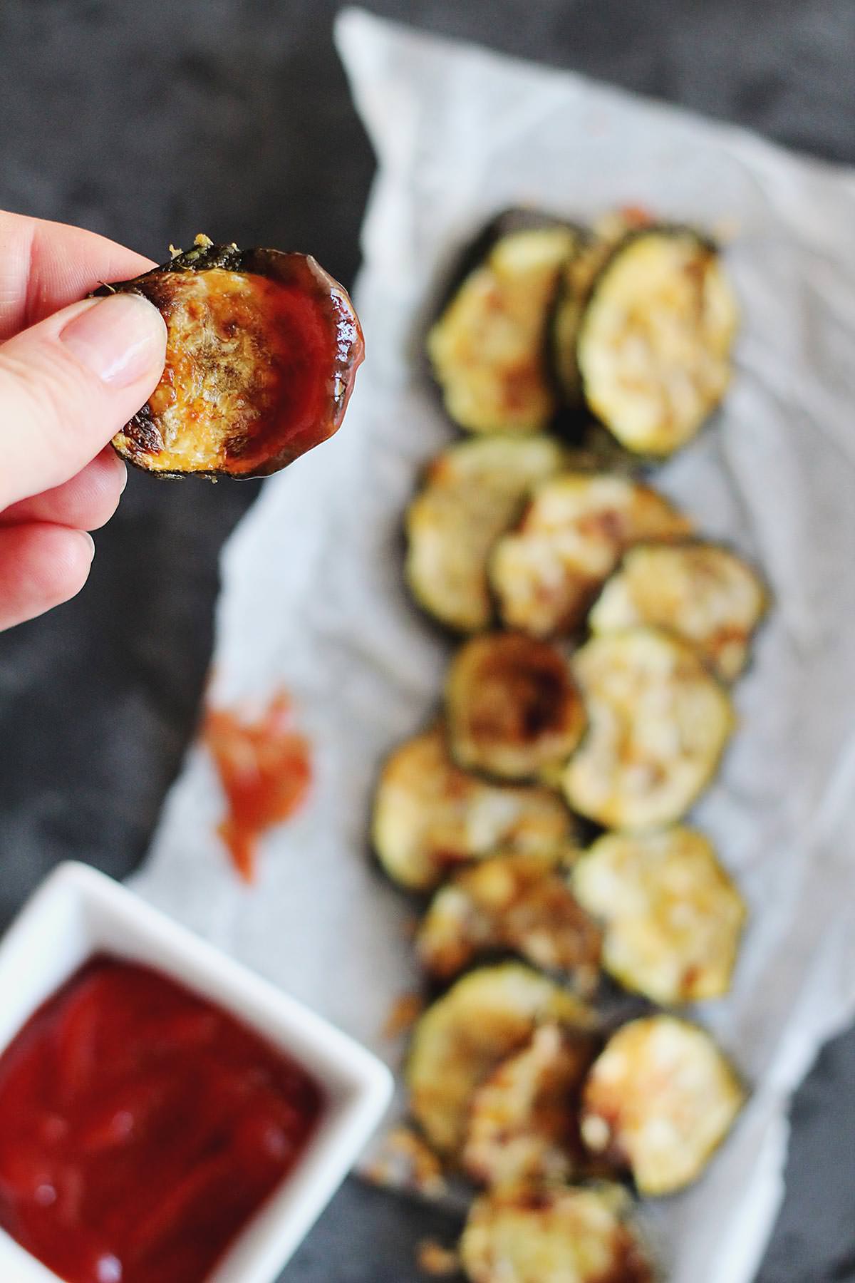
[[[290,1052],[324,1110],[295,1168],[253,1216],[209,1283],[272,1283],[353,1166],[392,1093],[385,1065],[314,1012],[86,865],[64,863],[0,943],[0,1051],[96,955],[142,962]],[[0,1230],[0,1278],[62,1283]]]

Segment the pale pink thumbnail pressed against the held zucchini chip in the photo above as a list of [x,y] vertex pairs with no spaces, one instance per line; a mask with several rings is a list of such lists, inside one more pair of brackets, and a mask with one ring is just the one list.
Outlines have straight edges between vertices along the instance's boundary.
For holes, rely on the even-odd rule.
[[140,294],[112,294],[79,312],[60,341],[103,382],[127,387],[163,361],[165,326]]

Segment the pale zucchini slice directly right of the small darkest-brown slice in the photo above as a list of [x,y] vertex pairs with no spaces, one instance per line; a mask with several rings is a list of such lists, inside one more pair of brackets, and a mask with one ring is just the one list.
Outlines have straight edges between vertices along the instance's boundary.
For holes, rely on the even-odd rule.
[[592,638],[576,653],[588,729],[564,770],[574,811],[606,829],[679,820],[733,730],[726,689],[686,642],[658,629]]

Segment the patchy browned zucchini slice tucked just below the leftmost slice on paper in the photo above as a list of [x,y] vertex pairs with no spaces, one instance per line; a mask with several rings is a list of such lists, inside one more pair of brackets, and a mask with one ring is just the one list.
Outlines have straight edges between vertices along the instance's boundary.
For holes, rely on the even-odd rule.
[[567,853],[501,854],[455,874],[435,894],[415,947],[423,966],[447,980],[478,953],[511,949],[594,993],[600,929],[579,907],[563,870]]

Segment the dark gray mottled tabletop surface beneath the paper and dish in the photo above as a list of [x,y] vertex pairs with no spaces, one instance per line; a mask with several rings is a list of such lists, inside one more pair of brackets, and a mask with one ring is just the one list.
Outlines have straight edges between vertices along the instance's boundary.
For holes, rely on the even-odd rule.
[[[328,0],[0,0],[0,207],[162,258],[169,241],[310,249],[345,281],[372,173]],[[374,0],[367,8],[855,162],[852,0]],[[1,246],[0,246],[1,251]],[[192,733],[217,550],[250,482],[135,476],[78,600],[0,638],[0,922],[56,861],[145,851]],[[855,1033],[793,1109],[759,1283],[855,1279]],[[351,1182],[287,1283],[409,1283],[454,1224]]]

